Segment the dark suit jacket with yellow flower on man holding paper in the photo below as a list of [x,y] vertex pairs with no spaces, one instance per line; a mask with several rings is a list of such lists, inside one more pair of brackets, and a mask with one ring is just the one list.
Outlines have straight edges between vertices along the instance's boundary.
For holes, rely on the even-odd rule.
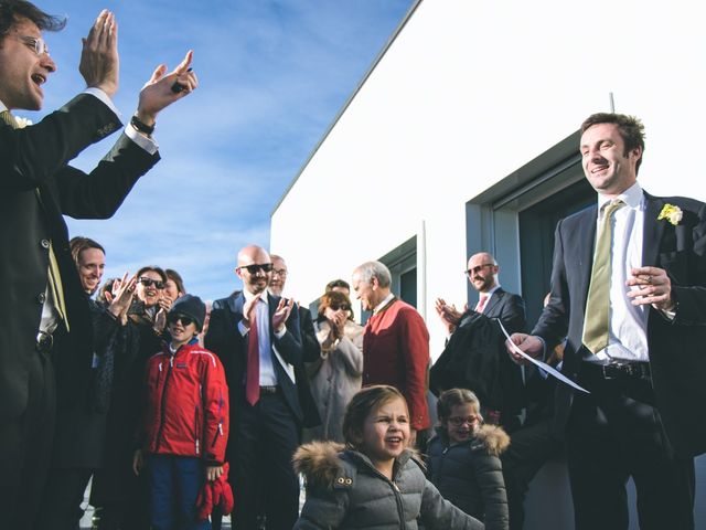
[[[678,304],[670,321],[650,307],[648,348],[652,385],[666,434],[677,454],[706,452],[706,205],[682,197],[645,193],[642,263],[666,269]],[[657,221],[665,203],[680,206],[676,225]],[[563,371],[578,379],[581,370],[584,311],[591,275],[597,206],[560,221],[556,227],[552,299],[533,335],[553,348],[567,336]],[[557,389],[557,420],[566,423],[571,390]]]

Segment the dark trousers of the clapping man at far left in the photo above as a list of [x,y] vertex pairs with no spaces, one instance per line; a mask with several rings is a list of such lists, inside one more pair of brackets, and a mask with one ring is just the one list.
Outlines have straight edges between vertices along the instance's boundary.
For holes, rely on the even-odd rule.
[[54,436],[56,390],[46,354],[18,352],[29,363],[24,413],[0,424],[0,528],[34,528]]

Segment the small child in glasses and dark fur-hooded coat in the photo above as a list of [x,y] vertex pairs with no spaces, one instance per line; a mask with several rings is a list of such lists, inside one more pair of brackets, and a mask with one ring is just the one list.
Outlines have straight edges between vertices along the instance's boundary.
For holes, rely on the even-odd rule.
[[502,427],[483,425],[481,404],[468,389],[450,389],[437,402],[439,427],[429,441],[429,480],[441,496],[486,530],[507,530],[507,496],[500,455],[510,445]]

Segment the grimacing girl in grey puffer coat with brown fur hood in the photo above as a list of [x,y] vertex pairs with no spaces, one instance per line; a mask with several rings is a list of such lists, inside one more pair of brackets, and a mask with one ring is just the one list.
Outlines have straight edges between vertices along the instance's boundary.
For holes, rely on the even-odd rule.
[[343,421],[346,447],[314,442],[295,454],[295,469],[307,478],[307,501],[295,530],[427,529],[482,530],[429,483],[407,449],[409,417],[393,386],[361,390]]

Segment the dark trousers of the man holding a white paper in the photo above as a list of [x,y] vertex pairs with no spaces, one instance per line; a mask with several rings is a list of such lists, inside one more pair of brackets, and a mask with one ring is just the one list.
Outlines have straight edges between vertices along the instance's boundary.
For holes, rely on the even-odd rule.
[[625,485],[638,492],[641,530],[694,528],[694,460],[665,437],[649,381],[581,378],[567,430],[577,530],[624,530]]

